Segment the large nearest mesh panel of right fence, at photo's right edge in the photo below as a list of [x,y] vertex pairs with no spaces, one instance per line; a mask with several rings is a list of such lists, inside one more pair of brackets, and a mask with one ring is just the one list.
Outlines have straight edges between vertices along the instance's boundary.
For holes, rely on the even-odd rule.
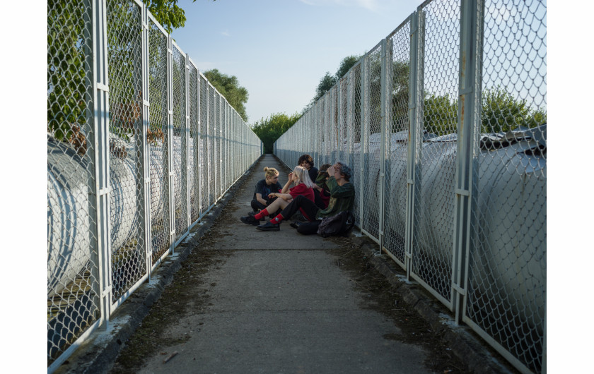
[[547,291],[546,13],[540,1],[485,4],[465,310],[533,372],[542,370]]

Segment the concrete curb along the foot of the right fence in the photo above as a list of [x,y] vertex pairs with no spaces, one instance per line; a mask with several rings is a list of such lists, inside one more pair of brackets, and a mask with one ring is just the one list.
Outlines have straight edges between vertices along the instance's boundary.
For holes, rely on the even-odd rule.
[[[405,275],[395,267],[394,261],[385,254],[378,254],[378,245],[364,237],[351,234],[351,239],[359,246],[363,255],[369,258],[376,270],[383,275],[404,301],[412,306],[431,328],[441,335],[452,353],[467,363],[467,370],[472,373],[517,373],[504,358],[475,336],[470,327],[455,325],[454,318],[441,303],[424,290],[417,282],[407,282]],[[493,351],[493,354],[491,354]],[[497,355],[494,356],[494,354]]]

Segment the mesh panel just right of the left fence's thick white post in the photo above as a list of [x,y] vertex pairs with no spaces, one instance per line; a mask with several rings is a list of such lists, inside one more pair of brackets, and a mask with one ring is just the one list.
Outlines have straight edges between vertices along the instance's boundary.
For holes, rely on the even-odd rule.
[[146,275],[141,7],[107,1],[112,302]]

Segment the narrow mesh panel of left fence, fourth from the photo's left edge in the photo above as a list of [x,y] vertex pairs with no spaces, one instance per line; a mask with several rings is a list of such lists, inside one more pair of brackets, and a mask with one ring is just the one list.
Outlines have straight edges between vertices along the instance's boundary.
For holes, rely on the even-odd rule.
[[173,47],[173,198],[175,201],[175,241],[187,231],[186,157],[186,61]]

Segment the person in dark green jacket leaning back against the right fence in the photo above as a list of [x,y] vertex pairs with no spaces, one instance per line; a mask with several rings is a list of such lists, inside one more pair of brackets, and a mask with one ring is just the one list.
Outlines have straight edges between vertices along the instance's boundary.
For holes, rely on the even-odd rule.
[[330,202],[326,209],[322,210],[313,201],[302,196],[297,196],[291,203],[284,207],[279,215],[269,222],[257,226],[256,229],[260,231],[279,231],[283,219],[291,217],[297,210],[301,210],[305,218],[309,219],[310,222],[301,224],[298,231],[301,234],[315,234],[318,231],[318,226],[322,218],[337,215],[339,212],[353,210],[355,187],[350,183],[351,168],[343,162],[336,162],[326,171],[329,176],[326,185],[330,191]]

